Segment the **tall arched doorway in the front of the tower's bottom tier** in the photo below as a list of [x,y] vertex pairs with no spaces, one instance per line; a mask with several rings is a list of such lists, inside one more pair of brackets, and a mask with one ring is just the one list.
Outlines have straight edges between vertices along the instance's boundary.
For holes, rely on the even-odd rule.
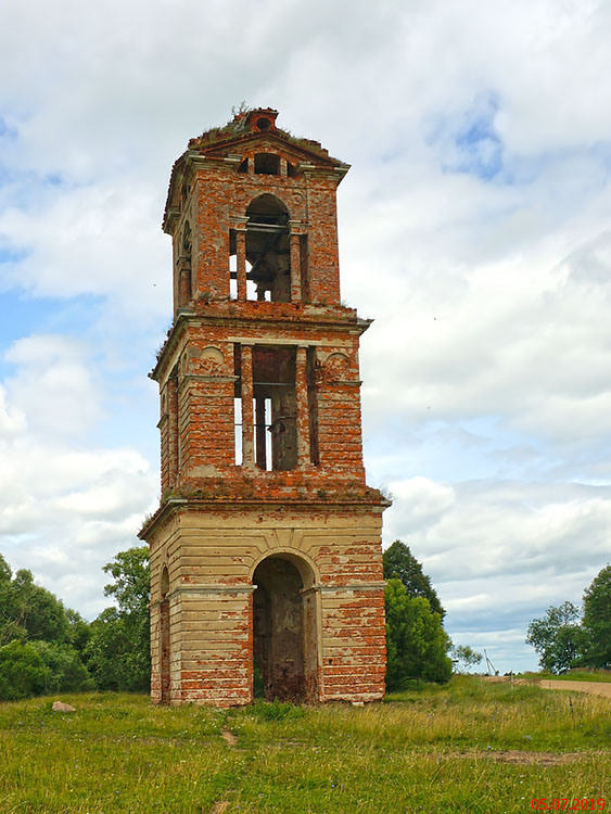
[[253,657],[265,699],[318,700],[314,574],[305,560],[272,555],[253,574]]

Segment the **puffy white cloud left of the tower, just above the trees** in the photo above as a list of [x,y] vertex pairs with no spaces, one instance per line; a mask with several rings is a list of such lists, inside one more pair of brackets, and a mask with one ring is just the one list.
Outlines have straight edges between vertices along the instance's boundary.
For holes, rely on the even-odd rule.
[[157,474],[138,450],[89,440],[100,392],[79,343],[33,335],[7,356],[17,370],[0,393],[0,549],[96,615],[106,603],[101,568],[138,543]]

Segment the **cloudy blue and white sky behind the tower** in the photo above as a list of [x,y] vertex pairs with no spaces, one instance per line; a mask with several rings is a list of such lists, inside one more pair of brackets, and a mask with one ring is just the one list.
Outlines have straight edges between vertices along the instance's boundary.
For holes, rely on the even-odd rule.
[[0,552],[94,618],[160,497],[174,161],[232,107],[352,165],[368,482],[456,644],[610,557],[611,3],[3,0]]

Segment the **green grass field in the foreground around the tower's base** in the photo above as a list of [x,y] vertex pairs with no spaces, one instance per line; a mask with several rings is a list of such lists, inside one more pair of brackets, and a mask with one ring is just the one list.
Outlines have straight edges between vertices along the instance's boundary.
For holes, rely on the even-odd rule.
[[611,809],[611,703],[585,694],[457,676],[365,708],[53,700],[0,704],[2,814]]

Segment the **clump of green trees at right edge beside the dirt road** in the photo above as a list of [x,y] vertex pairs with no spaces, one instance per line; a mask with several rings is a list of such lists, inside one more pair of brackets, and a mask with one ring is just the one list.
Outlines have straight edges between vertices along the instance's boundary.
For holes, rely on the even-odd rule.
[[526,644],[550,673],[571,667],[611,669],[611,565],[584,590],[583,607],[570,601],[547,609],[529,624]]

